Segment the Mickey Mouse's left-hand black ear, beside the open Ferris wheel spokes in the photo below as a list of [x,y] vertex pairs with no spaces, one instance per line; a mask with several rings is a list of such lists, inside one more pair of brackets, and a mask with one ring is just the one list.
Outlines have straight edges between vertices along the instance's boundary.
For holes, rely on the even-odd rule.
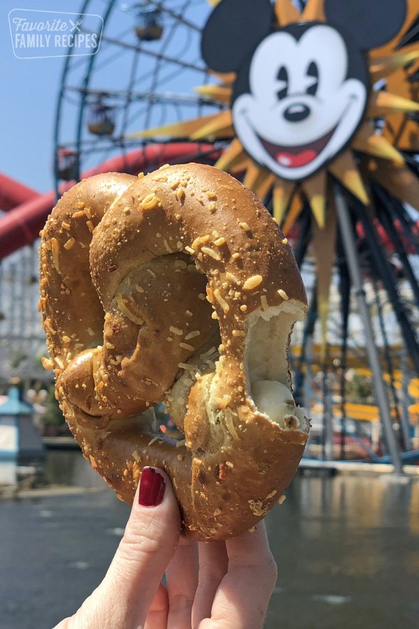
[[201,52],[216,72],[237,71],[244,59],[269,34],[270,0],[221,0],[203,30]]

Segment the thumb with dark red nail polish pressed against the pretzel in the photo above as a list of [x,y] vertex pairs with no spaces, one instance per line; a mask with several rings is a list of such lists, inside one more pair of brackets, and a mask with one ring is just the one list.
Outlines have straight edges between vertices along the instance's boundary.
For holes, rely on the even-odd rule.
[[[170,479],[161,470],[144,468],[124,537],[90,608],[103,629],[144,626],[163,572],[175,553],[180,514]],[[93,601],[90,601],[93,602]],[[89,599],[83,607],[89,604]],[[89,605],[90,607],[90,605]]]

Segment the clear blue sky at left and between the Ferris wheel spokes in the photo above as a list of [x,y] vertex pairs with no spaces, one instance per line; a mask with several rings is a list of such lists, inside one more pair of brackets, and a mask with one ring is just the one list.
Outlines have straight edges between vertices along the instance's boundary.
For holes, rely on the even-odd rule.
[[[129,2],[133,4],[133,1]],[[172,3],[172,6],[182,6],[179,3]],[[61,84],[61,73],[63,69],[63,58],[47,59],[17,59],[13,54],[12,42],[8,23],[10,10],[16,8],[27,8],[31,10],[78,12],[81,2],[71,0],[2,0],[0,4],[0,52],[1,52],[1,75],[3,85],[2,98],[2,133],[0,151],[0,171],[24,182],[38,191],[47,191],[53,185],[52,180],[52,154],[53,154],[53,131],[54,116],[57,103],[57,94]],[[92,0],[89,5],[89,13],[100,13],[103,15],[108,1]],[[112,17],[108,22],[107,33],[115,38],[123,38],[124,41],[135,44],[135,34],[133,24],[135,24],[135,14],[131,11],[121,10],[122,3],[115,3]],[[205,0],[195,2],[189,9],[191,21],[202,25],[205,22],[205,15],[211,8]],[[122,33],[126,33],[122,37]],[[185,48],[186,35],[190,37]],[[176,57],[179,55],[184,59],[191,59],[198,64],[198,34],[189,31],[189,34],[177,32],[168,48],[168,54]],[[158,44],[149,44],[149,50],[158,50]],[[183,48],[182,48],[183,47]],[[182,50],[181,50],[182,49]],[[112,61],[112,55],[116,59]],[[98,52],[96,60],[97,71],[92,75],[91,85],[98,89],[123,90],[128,85],[129,73],[133,64],[135,52],[133,50],[119,51],[112,45],[103,45]],[[197,57],[198,55],[198,57]],[[100,58],[99,58],[100,57]],[[81,58],[80,58],[81,59]],[[68,85],[80,85],[83,71],[86,67],[88,57],[84,57],[80,62],[80,68],[68,76]],[[106,60],[109,59],[109,62]],[[101,63],[105,62],[105,63]],[[155,59],[149,59],[147,55],[141,57],[140,71],[145,80],[137,82],[135,89],[152,89],[153,85],[150,77],[147,78],[147,68],[152,71]],[[200,62],[200,65],[203,65]],[[194,71],[182,71],[181,75],[173,75],[171,70],[175,66],[165,68],[166,77],[161,76],[161,82],[157,86],[158,90],[166,89],[170,92],[182,92],[191,94],[193,85],[202,82],[202,75]],[[176,69],[176,68],[175,68]],[[170,78],[170,76],[172,78]],[[80,94],[75,93],[73,103],[78,103]],[[121,100],[115,101],[121,110]],[[127,123],[127,131],[137,131],[145,124],[145,113],[138,109],[131,112],[132,121]],[[71,143],[75,138],[75,121],[78,108],[69,103],[64,107],[61,119],[61,142]],[[182,117],[193,117],[190,115],[192,108],[182,108]],[[203,112],[205,113],[205,112]],[[167,107],[164,109],[156,106],[153,109],[153,120],[148,120],[148,124],[158,124],[159,122],[170,122],[176,120],[178,113],[175,109]],[[85,121],[84,121],[85,126]],[[87,141],[94,140],[92,136],[84,133]],[[91,166],[102,161],[103,157],[109,157],[107,150],[102,150],[101,145],[94,148],[91,156],[86,158],[85,166]]]

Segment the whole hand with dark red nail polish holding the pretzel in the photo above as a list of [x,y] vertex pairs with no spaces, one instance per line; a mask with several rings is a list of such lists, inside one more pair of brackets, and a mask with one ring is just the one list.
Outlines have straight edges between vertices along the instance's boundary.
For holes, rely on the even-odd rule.
[[265,524],[227,542],[191,542],[180,529],[170,480],[144,468],[105,578],[55,629],[261,628],[277,579]]

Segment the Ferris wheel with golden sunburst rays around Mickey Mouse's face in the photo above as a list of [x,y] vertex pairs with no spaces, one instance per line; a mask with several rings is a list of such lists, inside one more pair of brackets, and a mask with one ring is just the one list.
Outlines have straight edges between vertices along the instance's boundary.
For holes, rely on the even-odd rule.
[[[327,23],[326,3],[272,0],[275,28],[293,33],[310,21]],[[419,375],[419,2],[407,1],[399,33],[368,56],[369,101],[358,132],[300,181],[260,167],[251,144],[237,133],[235,75],[210,68],[202,53],[205,25],[218,4],[84,2],[80,14],[100,13],[103,31],[98,54],[78,57],[70,51],[64,64],[54,136],[57,195],[65,182],[82,176],[147,172],[166,162],[203,161],[241,178],[286,232],[307,285],[309,316],[296,328],[291,356],[296,397],[305,396],[307,405],[318,409],[323,428],[326,416],[340,418],[341,456],[349,426],[368,451],[355,420],[369,421],[379,413],[387,417],[387,433],[391,422],[398,426],[399,446],[409,450],[409,412],[419,417],[411,393],[418,390]],[[318,67],[308,68],[313,91]],[[278,73],[278,93],[286,93],[286,78]],[[301,106],[290,110],[290,119],[302,113]],[[275,146],[265,142],[271,153]],[[283,151],[281,159],[305,166],[310,150],[299,157]],[[352,243],[345,242],[339,212],[346,215]],[[355,280],[351,252],[358,267]],[[387,401],[377,400],[376,391],[375,406],[353,403],[351,387],[358,375],[373,381],[378,372]],[[393,455],[394,447],[392,438]]]

